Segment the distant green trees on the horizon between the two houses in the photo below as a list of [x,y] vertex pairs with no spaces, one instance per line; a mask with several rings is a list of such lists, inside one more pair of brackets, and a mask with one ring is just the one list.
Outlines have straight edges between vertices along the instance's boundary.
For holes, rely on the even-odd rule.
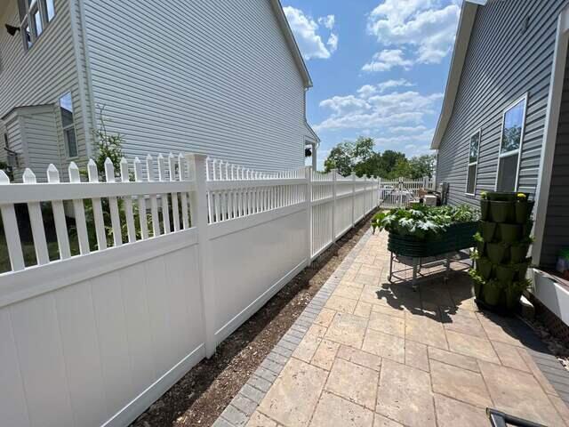
[[336,145],[325,159],[325,172],[337,169],[347,176],[381,176],[385,179],[422,178],[432,176],[435,155],[424,155],[407,159],[404,153],[387,149],[383,153],[374,151],[373,138],[359,137],[357,141],[344,141]]

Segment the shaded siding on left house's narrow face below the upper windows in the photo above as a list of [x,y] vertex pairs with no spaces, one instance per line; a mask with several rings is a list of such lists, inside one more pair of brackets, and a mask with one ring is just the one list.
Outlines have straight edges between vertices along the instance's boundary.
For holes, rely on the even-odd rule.
[[[55,17],[44,28],[44,33],[28,52],[24,49],[20,33],[9,36],[4,27],[0,31],[0,54],[3,66],[0,71],[0,117],[4,117],[17,107],[44,104],[55,106],[62,93],[71,92],[77,145],[80,156],[84,157],[84,124],[69,3],[68,0],[55,0]],[[15,0],[10,0],[10,4],[5,8],[2,22],[19,26],[20,18]],[[46,133],[53,136],[50,129],[46,130]],[[58,147],[53,155],[60,156],[63,148],[62,133],[57,133],[55,137],[57,140],[50,142],[49,145]],[[28,146],[31,147],[29,141]],[[66,176],[65,171],[62,174]]]

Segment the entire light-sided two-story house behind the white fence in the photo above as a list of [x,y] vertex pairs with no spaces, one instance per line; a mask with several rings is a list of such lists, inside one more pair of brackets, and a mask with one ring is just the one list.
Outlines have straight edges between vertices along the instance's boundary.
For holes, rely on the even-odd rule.
[[131,158],[192,151],[269,171],[317,146],[278,0],[6,0],[0,21],[0,161],[16,180],[92,157],[101,108]]

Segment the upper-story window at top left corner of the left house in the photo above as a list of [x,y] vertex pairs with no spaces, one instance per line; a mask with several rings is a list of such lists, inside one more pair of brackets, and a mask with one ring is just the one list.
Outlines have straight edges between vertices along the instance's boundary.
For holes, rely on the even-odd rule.
[[20,28],[24,47],[28,50],[55,17],[54,0],[18,0]]

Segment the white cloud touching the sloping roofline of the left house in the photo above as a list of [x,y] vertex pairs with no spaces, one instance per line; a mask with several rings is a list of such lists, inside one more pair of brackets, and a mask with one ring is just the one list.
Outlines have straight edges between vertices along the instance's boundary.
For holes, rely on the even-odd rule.
[[283,10],[293,30],[294,38],[299,44],[302,57],[305,60],[330,58],[338,47],[338,36],[331,33],[325,43],[323,41],[324,35],[319,34],[320,27],[318,24],[332,31],[335,22],[334,15],[314,20],[300,9],[295,9],[292,6],[285,6]]

